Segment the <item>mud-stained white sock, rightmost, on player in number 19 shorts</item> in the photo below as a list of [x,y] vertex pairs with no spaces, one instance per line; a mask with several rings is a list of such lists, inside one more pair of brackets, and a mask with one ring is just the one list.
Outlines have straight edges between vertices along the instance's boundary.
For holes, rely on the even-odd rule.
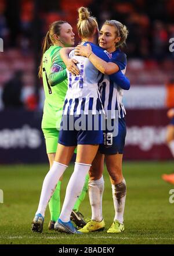
[[119,221],[121,224],[124,222],[124,208],[126,200],[126,182],[125,179],[117,185],[112,184],[113,201],[115,208],[114,221]]

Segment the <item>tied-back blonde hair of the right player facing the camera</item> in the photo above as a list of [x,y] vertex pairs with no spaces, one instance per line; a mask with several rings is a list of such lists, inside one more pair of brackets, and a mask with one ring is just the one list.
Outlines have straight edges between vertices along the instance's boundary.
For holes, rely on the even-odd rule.
[[121,39],[116,43],[115,47],[124,47],[129,33],[127,27],[118,22],[118,20],[106,20],[103,25],[114,26],[117,29],[117,37],[121,37]]

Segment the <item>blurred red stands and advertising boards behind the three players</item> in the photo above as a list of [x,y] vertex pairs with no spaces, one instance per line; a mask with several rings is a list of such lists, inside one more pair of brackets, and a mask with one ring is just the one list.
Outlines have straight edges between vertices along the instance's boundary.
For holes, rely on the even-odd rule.
[[169,51],[174,0],[0,0],[0,163],[47,161],[41,131],[44,90],[37,77],[42,39],[50,23],[67,20],[78,44],[80,6],[89,7],[100,27],[116,19],[129,29],[124,158],[172,159],[165,134],[166,111],[174,107],[174,51]]

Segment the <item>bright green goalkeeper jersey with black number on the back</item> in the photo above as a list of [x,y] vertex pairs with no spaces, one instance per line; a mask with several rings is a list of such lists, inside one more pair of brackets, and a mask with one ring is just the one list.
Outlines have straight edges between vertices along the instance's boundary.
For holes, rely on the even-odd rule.
[[67,92],[66,66],[60,57],[61,47],[52,45],[42,58],[42,77],[45,91],[42,128],[60,127],[64,98]]

